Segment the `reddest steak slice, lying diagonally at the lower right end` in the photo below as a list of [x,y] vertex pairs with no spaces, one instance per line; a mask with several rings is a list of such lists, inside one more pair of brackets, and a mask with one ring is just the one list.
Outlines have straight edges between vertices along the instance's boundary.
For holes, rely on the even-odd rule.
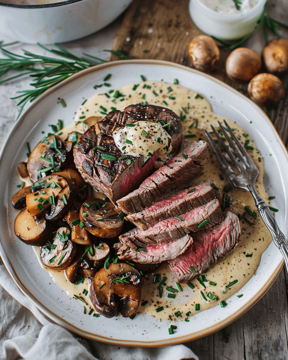
[[238,217],[230,211],[226,212],[221,224],[196,233],[192,246],[183,255],[168,262],[173,279],[177,283],[194,279],[233,250],[241,234]]

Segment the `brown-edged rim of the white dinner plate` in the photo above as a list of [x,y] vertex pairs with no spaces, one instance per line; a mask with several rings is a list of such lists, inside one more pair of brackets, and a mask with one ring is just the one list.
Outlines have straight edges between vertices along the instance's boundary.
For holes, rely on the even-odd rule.
[[[185,71],[188,72],[192,72],[195,73],[197,75],[201,75],[203,77],[208,78],[209,80],[216,82],[216,84],[225,87],[226,89],[232,91],[234,94],[237,94],[237,96],[240,96],[241,98],[245,99],[246,101],[248,101],[251,105],[253,105],[253,107],[255,107],[255,109],[260,112],[261,116],[266,118],[266,120],[268,120],[269,124],[271,124],[271,130],[273,130],[274,135],[276,136],[277,140],[279,141],[281,147],[283,148],[284,152],[286,152],[286,155],[288,156],[288,151],[287,148],[285,147],[282,139],[280,138],[278,132],[276,131],[276,129],[274,128],[273,124],[271,123],[269,117],[266,115],[266,113],[254,102],[252,102],[251,99],[247,98],[246,96],[244,96],[243,94],[239,93],[239,91],[237,91],[236,89],[234,89],[233,87],[231,87],[230,85],[226,84],[225,82],[211,76],[208,75],[206,73],[200,72],[198,70],[189,68],[187,66],[181,65],[181,64],[177,64],[177,63],[172,63],[169,61],[165,61],[165,60],[150,60],[150,59],[131,59],[131,60],[117,60],[117,61],[113,61],[113,62],[107,62],[107,63],[103,63],[103,64],[98,64],[95,66],[91,66],[89,68],[83,69],[79,72],[77,72],[76,74],[71,75],[69,78],[63,80],[62,82],[60,82],[59,84],[51,87],[50,89],[46,90],[41,96],[39,96],[39,98],[35,99],[33,101],[33,103],[30,105],[29,108],[26,109],[26,111],[19,117],[19,119],[15,122],[15,124],[13,125],[12,129],[10,130],[10,132],[8,133],[8,135],[6,136],[6,139],[3,143],[3,146],[1,148],[1,152],[0,152],[0,166],[1,166],[1,162],[3,161],[3,157],[4,157],[4,153],[5,153],[5,149],[8,146],[9,143],[9,139],[13,136],[14,132],[18,130],[18,127],[21,126],[21,123],[23,122],[24,118],[26,118],[28,116],[28,114],[31,112],[31,110],[33,108],[35,108],[42,99],[46,98],[47,96],[49,96],[51,93],[53,93],[54,91],[65,87],[66,85],[68,85],[69,83],[73,82],[74,80],[76,80],[79,77],[85,76],[89,73],[94,73],[95,71],[104,69],[104,68],[109,68],[109,67],[114,67],[114,66],[118,66],[118,65],[122,65],[122,64],[139,64],[139,65],[144,65],[144,64],[150,64],[150,65],[157,65],[157,66],[171,66],[171,67],[176,67],[176,68],[180,68],[183,69]],[[1,236],[0,236],[0,240],[1,240]],[[218,321],[216,324],[214,324],[212,327],[206,328],[201,330],[200,332],[197,333],[190,333],[187,334],[185,336],[179,336],[179,337],[174,337],[174,338],[167,338],[164,340],[156,340],[154,342],[151,341],[134,341],[134,340],[122,340],[122,339],[111,339],[109,337],[106,336],[101,336],[101,335],[97,335],[97,334],[92,334],[90,332],[87,332],[86,330],[82,330],[79,329],[76,325],[72,325],[70,323],[68,323],[68,321],[64,320],[63,318],[60,318],[58,315],[54,314],[53,311],[49,310],[48,308],[46,308],[46,306],[42,305],[40,303],[39,300],[37,300],[37,298],[35,296],[33,296],[33,294],[30,293],[30,291],[22,284],[22,282],[20,281],[20,279],[17,276],[16,271],[14,270],[13,265],[11,264],[8,256],[5,253],[4,247],[0,241],[0,256],[3,260],[4,266],[6,267],[8,273],[10,274],[10,276],[12,277],[13,281],[15,282],[15,284],[18,286],[18,288],[21,290],[21,292],[41,311],[43,312],[46,316],[48,316],[48,318],[50,318],[51,320],[53,320],[55,323],[62,325],[64,328],[72,331],[73,333],[76,333],[80,336],[92,339],[92,340],[96,340],[96,341],[100,341],[100,342],[104,342],[104,343],[108,343],[108,344],[113,344],[113,345],[121,345],[121,346],[131,346],[131,347],[135,347],[135,346],[141,346],[141,347],[159,347],[159,346],[167,346],[167,345],[176,345],[176,344],[180,344],[180,343],[184,343],[187,341],[193,341],[195,339],[201,338],[203,336],[207,336],[209,334],[212,334],[214,332],[216,332],[217,330],[222,329],[223,327],[229,325],[230,323],[232,323],[233,321],[235,321],[236,319],[238,319],[240,316],[242,316],[245,312],[247,312],[257,301],[259,301],[262,296],[264,296],[264,294],[268,291],[268,289],[270,288],[270,286],[273,284],[273,282],[275,281],[275,279],[277,278],[280,270],[283,267],[284,264],[284,260],[282,259],[278,266],[276,267],[274,273],[269,277],[269,279],[267,279],[266,283],[260,288],[260,291],[258,291],[257,294],[255,294],[254,297],[250,298],[250,300],[248,302],[246,302],[242,307],[240,307],[238,310],[236,310],[235,312],[233,312],[233,314],[229,315],[228,318]]]

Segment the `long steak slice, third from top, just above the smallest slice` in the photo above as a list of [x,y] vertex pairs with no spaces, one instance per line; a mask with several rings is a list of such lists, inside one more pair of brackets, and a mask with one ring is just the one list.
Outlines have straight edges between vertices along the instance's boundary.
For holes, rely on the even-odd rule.
[[[196,232],[202,229],[211,228],[223,220],[222,210],[217,199],[199,206],[181,217],[170,217],[158,222],[158,224],[147,230],[132,229],[120,235],[121,243],[135,248],[145,244],[167,243],[180,239],[190,231]],[[199,228],[199,226],[201,227]]]

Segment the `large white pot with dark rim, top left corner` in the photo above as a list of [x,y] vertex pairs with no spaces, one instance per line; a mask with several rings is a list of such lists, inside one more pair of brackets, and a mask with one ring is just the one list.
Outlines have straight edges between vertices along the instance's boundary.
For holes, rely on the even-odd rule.
[[80,39],[111,23],[131,1],[0,0],[0,35],[28,44]]

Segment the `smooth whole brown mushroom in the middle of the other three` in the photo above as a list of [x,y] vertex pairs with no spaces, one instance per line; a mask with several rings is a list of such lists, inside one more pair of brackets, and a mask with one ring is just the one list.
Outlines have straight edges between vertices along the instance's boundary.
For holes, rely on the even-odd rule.
[[262,68],[260,56],[247,48],[238,48],[231,52],[226,60],[226,73],[231,80],[248,82]]

